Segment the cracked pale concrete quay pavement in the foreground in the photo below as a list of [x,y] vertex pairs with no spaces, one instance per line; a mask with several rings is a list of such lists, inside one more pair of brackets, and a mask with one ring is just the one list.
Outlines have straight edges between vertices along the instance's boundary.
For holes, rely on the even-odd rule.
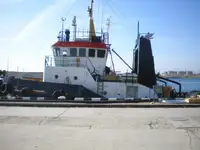
[[200,108],[0,107],[1,150],[199,150]]

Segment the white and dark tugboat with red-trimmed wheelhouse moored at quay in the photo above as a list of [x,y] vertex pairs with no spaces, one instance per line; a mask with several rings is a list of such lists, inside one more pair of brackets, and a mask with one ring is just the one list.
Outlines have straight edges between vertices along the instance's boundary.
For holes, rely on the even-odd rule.
[[[2,94],[13,96],[83,98],[157,98],[154,86],[156,74],[151,50],[152,34],[139,33],[130,67],[109,44],[109,32],[95,32],[93,3],[88,8],[89,31],[77,31],[76,16],[73,31],[59,32],[52,45],[53,56],[45,56],[43,82],[9,77],[1,86]],[[108,55],[114,52],[131,73],[117,74],[106,66]],[[112,57],[111,57],[112,58]],[[113,63],[114,68],[114,63]]]

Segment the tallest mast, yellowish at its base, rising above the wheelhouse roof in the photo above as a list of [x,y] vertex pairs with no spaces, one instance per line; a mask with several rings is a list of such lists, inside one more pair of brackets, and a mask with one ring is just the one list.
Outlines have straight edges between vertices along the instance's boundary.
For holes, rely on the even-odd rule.
[[93,22],[93,3],[94,0],[91,0],[90,7],[88,7],[89,17],[90,17],[90,25],[89,25],[89,39],[92,40],[92,37],[95,36],[95,28]]

